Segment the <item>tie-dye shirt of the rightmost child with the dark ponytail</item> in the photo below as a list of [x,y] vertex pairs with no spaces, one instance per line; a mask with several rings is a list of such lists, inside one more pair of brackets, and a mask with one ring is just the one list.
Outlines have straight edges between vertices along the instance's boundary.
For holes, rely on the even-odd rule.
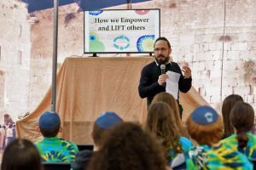
[[221,140],[220,143],[224,144],[226,148],[240,151],[246,155],[250,161],[256,161],[256,135],[253,133],[247,133],[247,137],[247,146],[244,148],[238,147],[236,134],[232,134],[229,138]]

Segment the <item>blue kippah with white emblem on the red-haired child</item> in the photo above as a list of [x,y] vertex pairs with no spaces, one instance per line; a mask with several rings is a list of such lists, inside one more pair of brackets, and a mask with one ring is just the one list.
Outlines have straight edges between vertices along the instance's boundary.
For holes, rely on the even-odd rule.
[[208,125],[218,120],[218,113],[212,107],[204,105],[191,113],[191,119],[201,125]]

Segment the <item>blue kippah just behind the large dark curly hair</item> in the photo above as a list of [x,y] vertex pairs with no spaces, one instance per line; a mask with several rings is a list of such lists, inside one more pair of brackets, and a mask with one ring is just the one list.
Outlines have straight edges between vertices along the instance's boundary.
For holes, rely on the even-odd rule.
[[105,129],[113,127],[119,122],[123,122],[123,120],[117,114],[111,111],[104,112],[96,119],[96,125]]

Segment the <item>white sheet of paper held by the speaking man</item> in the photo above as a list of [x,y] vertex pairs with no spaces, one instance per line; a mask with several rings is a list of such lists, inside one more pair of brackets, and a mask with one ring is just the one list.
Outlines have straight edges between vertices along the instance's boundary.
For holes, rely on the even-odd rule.
[[177,99],[178,94],[178,80],[180,74],[173,71],[167,71],[168,79],[166,80],[166,92],[172,94],[175,99]]

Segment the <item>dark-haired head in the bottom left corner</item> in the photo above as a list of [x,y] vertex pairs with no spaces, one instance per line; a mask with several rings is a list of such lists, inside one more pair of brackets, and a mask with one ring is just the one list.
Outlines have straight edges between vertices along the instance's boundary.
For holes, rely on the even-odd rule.
[[43,170],[40,155],[31,141],[14,139],[3,152],[1,170]]

